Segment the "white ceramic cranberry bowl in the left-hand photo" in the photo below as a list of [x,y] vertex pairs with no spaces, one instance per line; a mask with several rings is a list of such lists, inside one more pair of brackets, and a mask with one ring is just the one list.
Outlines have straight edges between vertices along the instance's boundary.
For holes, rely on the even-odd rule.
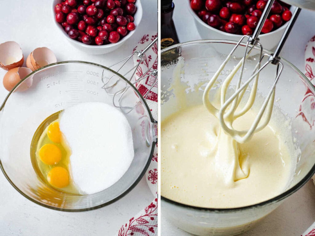
[[66,33],[66,31],[63,29],[62,25],[59,24],[58,22],[56,22],[55,20],[55,15],[56,13],[54,12],[54,7],[56,4],[60,3],[61,0],[54,0],[52,1],[52,20],[54,21],[54,24],[57,26],[58,30],[61,32],[61,34],[77,49],[85,52],[85,53],[89,53],[89,54],[105,54],[105,53],[110,53],[114,50],[116,50],[117,48],[121,47],[137,30],[138,25],[140,24],[140,21],[142,19],[142,6],[140,3],[140,0],[137,0],[135,5],[137,7],[137,12],[135,13],[135,25],[136,28],[133,31],[130,31],[128,33],[127,36],[123,37],[120,41],[118,41],[117,43],[110,43],[110,44],[106,44],[106,45],[87,45],[84,44],[82,42],[79,42],[75,39],[72,39],[68,36],[68,34]]

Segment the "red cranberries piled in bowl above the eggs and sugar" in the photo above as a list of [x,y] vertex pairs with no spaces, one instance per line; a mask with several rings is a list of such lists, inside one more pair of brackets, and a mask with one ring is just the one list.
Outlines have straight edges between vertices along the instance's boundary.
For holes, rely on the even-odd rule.
[[56,21],[70,38],[85,44],[116,43],[135,29],[136,0],[62,0]]

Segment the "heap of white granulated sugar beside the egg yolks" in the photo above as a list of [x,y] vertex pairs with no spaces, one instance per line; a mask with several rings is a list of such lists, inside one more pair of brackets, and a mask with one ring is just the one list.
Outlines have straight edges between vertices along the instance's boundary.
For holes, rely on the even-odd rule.
[[134,146],[130,125],[119,110],[104,103],[82,103],[65,109],[59,124],[71,149],[72,179],[80,192],[100,192],[128,170]]

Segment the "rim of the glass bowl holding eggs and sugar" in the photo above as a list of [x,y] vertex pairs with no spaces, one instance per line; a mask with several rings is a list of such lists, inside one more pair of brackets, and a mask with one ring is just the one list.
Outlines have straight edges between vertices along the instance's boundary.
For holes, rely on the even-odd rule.
[[[124,76],[122,76],[121,74],[117,73],[116,71],[106,67],[106,66],[103,66],[103,65],[100,65],[100,64],[97,64],[97,63],[93,63],[93,62],[87,62],[87,61],[78,61],[78,60],[69,60],[69,61],[60,61],[60,62],[56,62],[56,63],[52,63],[52,64],[49,64],[49,65],[46,65],[46,66],[43,66],[37,70],[34,70],[32,71],[30,74],[28,74],[27,76],[25,76],[24,79],[20,80],[15,86],[14,88],[8,93],[8,95],[6,96],[6,98],[4,99],[2,105],[0,106],[0,112],[3,110],[3,108],[5,107],[5,104],[7,102],[7,100],[9,99],[10,95],[14,92],[14,90],[23,82],[25,81],[27,78],[29,78],[30,76],[33,76],[34,74],[36,74],[37,72],[41,71],[41,70],[44,70],[46,68],[49,68],[49,67],[54,67],[56,65],[63,65],[63,64],[68,64],[68,63],[72,63],[72,64],[87,64],[87,65],[93,65],[93,66],[97,66],[97,67],[100,67],[102,69],[105,69],[105,70],[108,70],[112,73],[114,73],[115,75],[119,76],[120,78],[122,78],[132,89],[133,91],[139,96],[139,98],[142,100],[143,104],[145,104],[145,107],[146,107],[146,110],[150,116],[150,120],[151,120],[151,123],[157,123],[157,121],[153,118],[152,116],[152,113],[150,111],[150,108],[148,106],[148,104],[146,103],[146,100],[143,98],[143,96],[141,95],[141,93],[138,91],[138,89],[135,88],[135,86],[129,81],[127,80]],[[3,168],[3,165],[2,165],[2,161],[0,159],[0,169],[1,171],[3,172],[3,175],[6,177],[6,179],[9,181],[9,183],[15,188],[15,190],[17,190],[21,195],[23,195],[26,199],[36,203],[37,205],[40,205],[40,206],[43,206],[43,207],[46,207],[46,208],[49,208],[49,209],[52,209],[52,210],[57,210],[57,211],[66,211],[66,212],[79,212],[79,211],[90,211],[90,210],[95,210],[95,209],[98,209],[98,208],[101,208],[101,207],[104,207],[104,206],[107,206],[107,205],[110,205],[114,202],[116,202],[117,200],[123,198],[125,195],[127,195],[133,188],[135,188],[135,186],[140,182],[140,180],[142,179],[142,177],[144,176],[146,170],[148,169],[150,163],[151,163],[151,158],[152,158],[152,155],[153,155],[153,152],[154,152],[154,149],[155,149],[155,144],[157,143],[157,140],[153,140],[152,142],[152,148],[151,148],[151,151],[150,151],[150,155],[148,156],[148,160],[146,161],[146,165],[144,167],[144,169],[141,171],[140,175],[135,179],[135,181],[133,182],[133,184],[131,184],[129,186],[129,188],[127,188],[122,194],[120,194],[119,196],[115,197],[114,199],[106,202],[106,203],[102,203],[100,205],[97,205],[97,206],[93,206],[93,207],[87,207],[87,208],[82,208],[82,209],[65,209],[65,208],[59,208],[59,207],[54,207],[54,206],[50,206],[50,205],[45,205],[41,202],[38,202],[37,200],[29,197],[27,194],[25,194],[22,190],[20,190],[20,188],[18,188],[14,183],[13,181],[9,178],[9,176],[7,175],[6,171],[4,170]]]

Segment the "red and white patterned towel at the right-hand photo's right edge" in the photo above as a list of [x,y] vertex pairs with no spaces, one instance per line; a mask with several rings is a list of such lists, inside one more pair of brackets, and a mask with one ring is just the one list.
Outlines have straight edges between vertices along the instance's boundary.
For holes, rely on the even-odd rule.
[[[315,36],[311,38],[311,40],[306,44],[305,48],[305,76],[315,85]],[[311,91],[306,91],[305,98],[312,96],[311,99],[314,100],[314,96]],[[314,104],[314,103],[312,103]],[[301,104],[301,108],[303,104]],[[313,105],[312,105],[313,106]],[[313,107],[314,109],[314,107]],[[300,111],[302,112],[302,111]],[[309,122],[309,117],[303,117],[303,119],[308,122],[308,124],[312,127],[314,122]],[[312,177],[312,180],[315,184],[315,175]],[[315,236],[315,222],[303,233],[301,236]]]

